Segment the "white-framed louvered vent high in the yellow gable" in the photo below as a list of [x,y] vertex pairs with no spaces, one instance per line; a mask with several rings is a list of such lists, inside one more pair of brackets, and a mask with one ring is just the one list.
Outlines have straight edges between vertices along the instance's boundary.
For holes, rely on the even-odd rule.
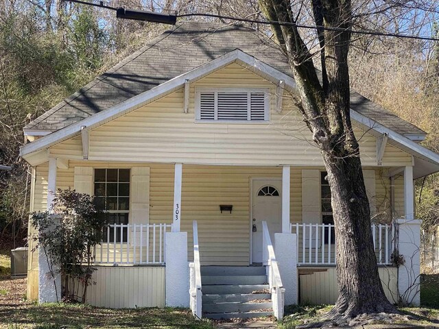
[[267,88],[202,88],[196,92],[197,121],[264,122],[269,117]]

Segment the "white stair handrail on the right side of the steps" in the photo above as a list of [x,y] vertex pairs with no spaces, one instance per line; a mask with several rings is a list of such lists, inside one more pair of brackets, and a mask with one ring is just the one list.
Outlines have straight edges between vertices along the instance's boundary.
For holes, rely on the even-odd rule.
[[263,265],[267,269],[268,284],[270,284],[270,292],[272,294],[273,313],[276,319],[281,320],[283,318],[285,289],[283,288],[281,273],[279,272],[266,221],[262,222],[262,231],[262,260]]

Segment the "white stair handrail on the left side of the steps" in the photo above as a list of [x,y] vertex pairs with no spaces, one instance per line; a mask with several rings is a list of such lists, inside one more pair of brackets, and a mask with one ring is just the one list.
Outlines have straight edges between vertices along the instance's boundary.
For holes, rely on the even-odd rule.
[[192,314],[198,319],[202,317],[202,291],[201,291],[201,267],[200,267],[200,249],[198,247],[198,225],[193,221],[193,263],[189,264],[191,268],[190,276],[190,304]]

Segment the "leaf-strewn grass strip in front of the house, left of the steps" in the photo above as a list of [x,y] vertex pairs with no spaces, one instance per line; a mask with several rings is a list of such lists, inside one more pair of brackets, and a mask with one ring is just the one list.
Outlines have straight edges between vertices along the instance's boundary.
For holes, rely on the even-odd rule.
[[0,328],[214,328],[197,321],[187,309],[110,309],[83,304],[28,304],[0,310]]

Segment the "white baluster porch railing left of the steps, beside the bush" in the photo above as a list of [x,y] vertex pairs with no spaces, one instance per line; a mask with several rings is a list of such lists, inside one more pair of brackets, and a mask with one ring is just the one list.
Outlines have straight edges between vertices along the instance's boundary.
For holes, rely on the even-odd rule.
[[94,263],[101,265],[165,264],[165,232],[172,225],[110,224],[94,250]]

